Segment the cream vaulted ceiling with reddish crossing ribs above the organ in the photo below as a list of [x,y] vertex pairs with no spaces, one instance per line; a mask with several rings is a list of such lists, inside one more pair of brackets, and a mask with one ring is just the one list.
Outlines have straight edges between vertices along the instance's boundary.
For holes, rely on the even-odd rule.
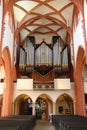
[[54,34],[66,44],[67,27],[72,29],[73,12],[71,0],[17,0],[14,3],[19,30],[26,32],[24,39],[28,35]]

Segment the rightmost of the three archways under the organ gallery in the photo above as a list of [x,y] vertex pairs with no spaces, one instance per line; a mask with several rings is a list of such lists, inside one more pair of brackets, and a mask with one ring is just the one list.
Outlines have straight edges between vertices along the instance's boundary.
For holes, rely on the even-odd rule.
[[57,114],[74,114],[74,106],[72,98],[64,93],[60,95],[56,101]]

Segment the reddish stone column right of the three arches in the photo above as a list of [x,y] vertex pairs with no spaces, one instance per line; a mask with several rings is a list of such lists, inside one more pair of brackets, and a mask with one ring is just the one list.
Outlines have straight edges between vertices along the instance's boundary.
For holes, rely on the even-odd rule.
[[86,115],[84,81],[82,79],[84,64],[85,64],[85,52],[84,49],[80,46],[77,53],[76,67],[74,70],[74,78],[75,78],[76,114],[82,116]]

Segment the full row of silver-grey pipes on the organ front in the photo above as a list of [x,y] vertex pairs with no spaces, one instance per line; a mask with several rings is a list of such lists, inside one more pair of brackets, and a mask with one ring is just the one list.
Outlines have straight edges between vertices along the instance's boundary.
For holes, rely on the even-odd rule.
[[20,47],[19,67],[37,65],[53,65],[60,69],[68,67],[67,47],[62,49],[58,38],[51,49],[44,41],[35,49],[35,46],[27,38],[25,50]]

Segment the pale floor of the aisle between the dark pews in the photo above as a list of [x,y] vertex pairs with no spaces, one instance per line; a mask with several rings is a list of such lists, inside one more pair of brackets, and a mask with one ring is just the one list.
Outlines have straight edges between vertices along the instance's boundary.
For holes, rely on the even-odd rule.
[[48,121],[38,120],[33,130],[55,130],[55,127]]

